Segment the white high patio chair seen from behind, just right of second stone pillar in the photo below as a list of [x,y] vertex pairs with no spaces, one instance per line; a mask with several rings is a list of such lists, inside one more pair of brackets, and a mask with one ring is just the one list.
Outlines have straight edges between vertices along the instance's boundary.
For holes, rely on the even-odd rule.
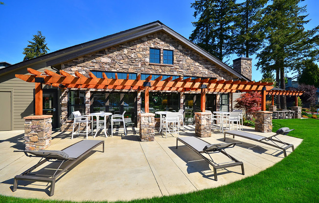
[[178,112],[167,112],[166,116],[163,115],[163,131],[165,128],[165,135],[167,138],[168,133],[177,133],[178,137],[180,137],[180,117],[178,116]]

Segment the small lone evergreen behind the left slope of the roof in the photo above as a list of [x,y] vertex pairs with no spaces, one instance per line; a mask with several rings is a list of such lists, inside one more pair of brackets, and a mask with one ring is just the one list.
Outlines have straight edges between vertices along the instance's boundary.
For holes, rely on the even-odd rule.
[[23,61],[33,59],[47,54],[47,50],[50,50],[46,46],[46,37],[42,36],[41,31],[38,31],[37,35],[33,35],[32,41],[28,41],[30,44],[23,49],[25,55]]

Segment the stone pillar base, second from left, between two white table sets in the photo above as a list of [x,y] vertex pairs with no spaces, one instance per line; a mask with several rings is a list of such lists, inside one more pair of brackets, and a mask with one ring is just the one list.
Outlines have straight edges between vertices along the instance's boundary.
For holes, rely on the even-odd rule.
[[139,114],[139,138],[141,141],[154,141],[155,139],[155,114]]

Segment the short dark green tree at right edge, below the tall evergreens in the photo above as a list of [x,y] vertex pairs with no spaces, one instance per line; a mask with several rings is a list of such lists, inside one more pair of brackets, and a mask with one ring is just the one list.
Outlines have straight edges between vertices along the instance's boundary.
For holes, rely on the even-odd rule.
[[299,77],[299,84],[314,85],[319,88],[319,67],[312,60],[303,61],[304,69]]

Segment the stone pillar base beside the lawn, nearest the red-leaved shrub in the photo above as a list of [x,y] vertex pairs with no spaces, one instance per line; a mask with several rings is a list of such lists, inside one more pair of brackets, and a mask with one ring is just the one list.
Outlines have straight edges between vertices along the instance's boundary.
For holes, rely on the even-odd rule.
[[262,133],[269,133],[273,130],[273,112],[255,111],[255,130]]

